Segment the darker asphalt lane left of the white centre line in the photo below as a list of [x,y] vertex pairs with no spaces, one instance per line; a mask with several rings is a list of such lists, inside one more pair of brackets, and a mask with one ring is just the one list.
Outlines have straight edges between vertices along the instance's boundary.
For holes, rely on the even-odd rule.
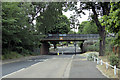
[[22,68],[27,68],[38,62],[43,62],[44,60],[49,59],[49,58],[50,56],[38,56],[38,57],[28,59],[28,60],[22,60],[18,62],[3,64],[2,65],[2,76],[5,76],[17,70],[20,70]]

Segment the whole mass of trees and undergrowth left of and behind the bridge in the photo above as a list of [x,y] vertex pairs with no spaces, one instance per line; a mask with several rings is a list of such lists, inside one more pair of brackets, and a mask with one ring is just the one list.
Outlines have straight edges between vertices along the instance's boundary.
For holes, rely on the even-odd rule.
[[2,3],[2,59],[39,55],[34,49],[40,48],[43,35],[69,31],[62,3]]

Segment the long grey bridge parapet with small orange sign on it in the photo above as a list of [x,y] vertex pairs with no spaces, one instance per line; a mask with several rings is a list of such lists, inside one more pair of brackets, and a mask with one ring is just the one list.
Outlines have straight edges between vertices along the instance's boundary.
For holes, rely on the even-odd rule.
[[42,40],[65,40],[65,41],[79,41],[87,39],[99,39],[99,34],[48,34]]

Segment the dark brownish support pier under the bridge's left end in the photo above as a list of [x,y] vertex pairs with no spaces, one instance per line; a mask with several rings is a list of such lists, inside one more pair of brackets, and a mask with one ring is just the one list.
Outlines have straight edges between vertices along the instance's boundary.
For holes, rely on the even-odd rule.
[[40,54],[41,55],[48,54],[49,48],[50,48],[50,45],[48,42],[42,42],[41,47],[40,47]]

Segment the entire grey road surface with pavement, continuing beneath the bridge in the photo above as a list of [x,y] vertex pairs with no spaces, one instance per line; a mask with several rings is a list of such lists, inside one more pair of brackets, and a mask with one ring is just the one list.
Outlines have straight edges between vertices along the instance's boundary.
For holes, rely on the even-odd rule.
[[[73,51],[74,47],[58,48]],[[78,48],[79,51],[79,48]],[[68,53],[68,52],[67,52]],[[80,54],[41,55],[36,58],[3,64],[4,78],[106,78],[94,62]]]

